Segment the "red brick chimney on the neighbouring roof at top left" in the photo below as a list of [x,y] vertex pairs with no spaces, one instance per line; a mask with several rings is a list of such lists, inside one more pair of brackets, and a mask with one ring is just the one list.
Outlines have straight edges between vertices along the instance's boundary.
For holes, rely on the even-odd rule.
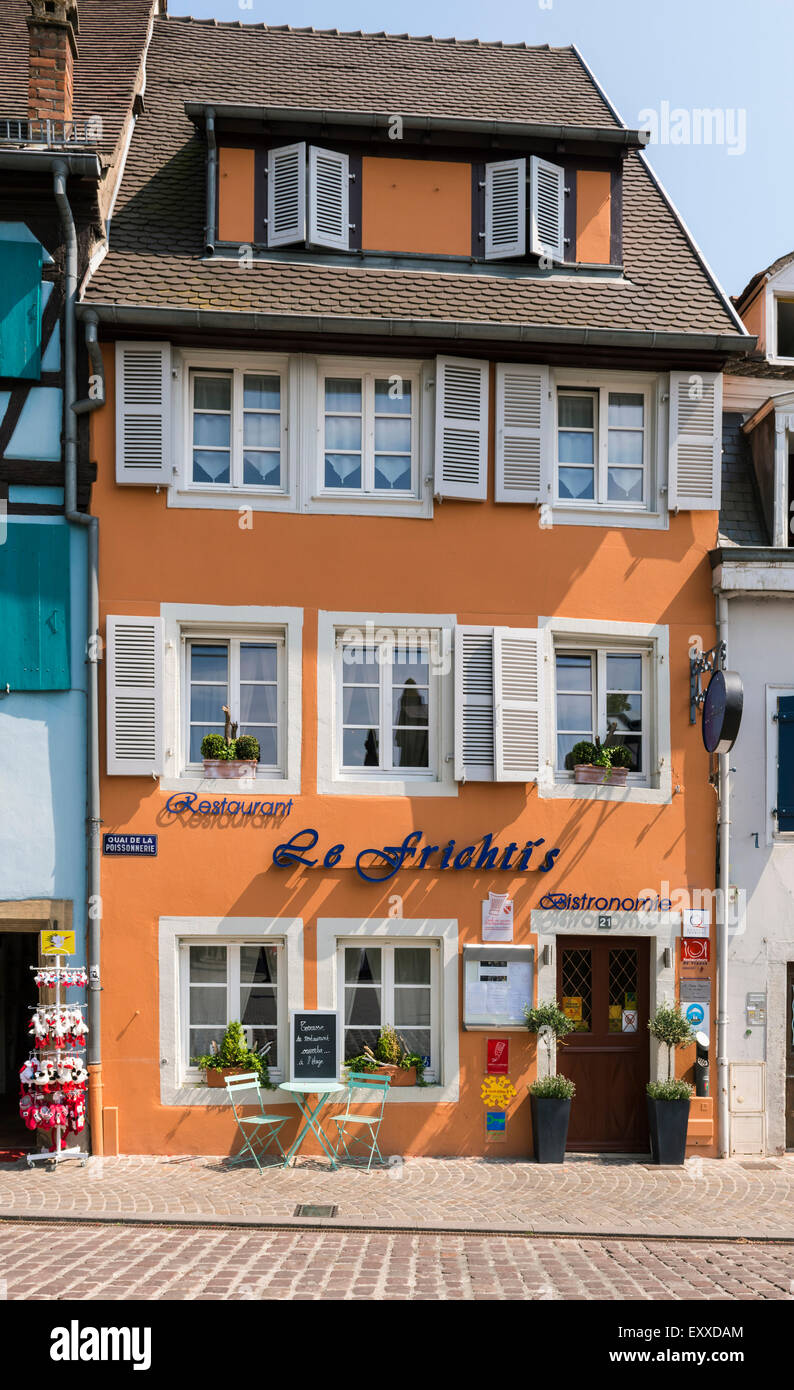
[[75,0],[28,0],[31,121],[71,121],[74,64],[78,56]]

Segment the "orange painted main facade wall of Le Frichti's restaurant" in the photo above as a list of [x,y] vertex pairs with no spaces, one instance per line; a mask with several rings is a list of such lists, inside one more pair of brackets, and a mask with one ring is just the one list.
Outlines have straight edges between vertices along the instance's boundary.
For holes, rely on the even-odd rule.
[[[623,899],[649,888],[663,895],[665,884],[669,891],[713,884],[715,796],[699,728],[690,724],[688,687],[692,635],[704,648],[715,641],[708,564],[713,513],[681,512],[670,517],[669,530],[544,530],[535,507],[446,500],[432,520],[257,512],[246,527],[236,510],[168,507],[164,491],[114,481],[114,363],[107,348],[104,360],[107,404],[92,417],[103,623],[108,614],[159,614],[161,603],[178,602],[303,610],[300,792],[288,817],[261,824],[236,816],[170,816],[168,792],[157,780],[103,776],[103,830],[159,835],[157,858],[103,860],[104,1106],[108,1137],[111,1112],[118,1111],[122,1152],[218,1154],[228,1152],[234,1138],[228,1109],[213,1106],[211,1095],[206,1105],[161,1104],[161,917],[300,917],[302,999],[313,1008],[318,919],[388,917],[395,895],[405,919],[455,919],[459,942],[480,942],[481,901],[489,890],[509,891],[515,941],[537,952],[542,941],[533,910],[549,891]],[[519,783],[467,783],[446,796],[318,795],[320,610],[434,612],[508,627],[534,627],[555,614],[665,624],[670,799],[553,799],[541,798],[537,784]],[[104,769],[104,751],[102,756]],[[318,831],[321,849],[345,845],[337,867],[273,865],[274,847],[303,827]],[[403,867],[387,884],[356,874],[360,848],[395,845],[414,830],[424,833],[424,842],[452,838],[457,847],[478,844],[487,831],[499,845],[542,837],[560,852],[548,873],[439,872],[428,865]],[[709,977],[712,972],[713,955]],[[463,1031],[460,1023],[457,1029],[459,1099],[387,1106],[385,1154],[528,1152],[535,1040],[510,1034],[509,1076],[517,1094],[506,1134],[489,1141],[480,1097],[487,1034]],[[712,1011],[712,1058],[713,1034]],[[694,1048],[679,1054],[679,1074],[691,1076],[692,1062]],[[712,1137],[708,1123],[701,1129],[702,1152],[715,1152]]]

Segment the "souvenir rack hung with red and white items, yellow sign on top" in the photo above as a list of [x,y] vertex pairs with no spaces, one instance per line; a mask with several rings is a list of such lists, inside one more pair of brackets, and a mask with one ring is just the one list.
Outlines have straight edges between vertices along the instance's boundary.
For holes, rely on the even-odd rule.
[[[85,1129],[85,1087],[88,1072],[83,1065],[83,1019],[86,1004],[67,1002],[65,991],[88,984],[85,966],[54,963],[31,966],[39,988],[39,1004],[32,1008],[29,1033],[33,1049],[19,1073],[19,1115],[31,1130],[49,1130],[51,1147],[28,1154],[32,1163],[56,1166],[64,1158],[79,1158],[85,1166],[88,1154],[76,1144],[64,1145],[64,1134],[79,1134]],[[54,1001],[44,1004],[43,990],[54,991]]]

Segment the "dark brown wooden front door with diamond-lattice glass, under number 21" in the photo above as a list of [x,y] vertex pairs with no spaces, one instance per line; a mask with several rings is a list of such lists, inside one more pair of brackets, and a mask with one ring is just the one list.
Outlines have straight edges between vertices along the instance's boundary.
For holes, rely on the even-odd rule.
[[572,1152],[649,1152],[649,955],[642,937],[558,937],[558,999],[580,1013],[556,1061],[576,1083]]

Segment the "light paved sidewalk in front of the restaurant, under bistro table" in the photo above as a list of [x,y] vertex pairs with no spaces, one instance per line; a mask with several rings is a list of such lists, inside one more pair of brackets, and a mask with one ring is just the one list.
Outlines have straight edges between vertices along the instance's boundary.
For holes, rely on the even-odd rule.
[[565,1165],[476,1158],[394,1159],[387,1169],[229,1169],[220,1158],[104,1158],[56,1172],[0,1165],[0,1219],[299,1226],[299,1202],[335,1218],[303,1225],[610,1236],[794,1240],[794,1156],[690,1159],[654,1168],[570,1155]]

